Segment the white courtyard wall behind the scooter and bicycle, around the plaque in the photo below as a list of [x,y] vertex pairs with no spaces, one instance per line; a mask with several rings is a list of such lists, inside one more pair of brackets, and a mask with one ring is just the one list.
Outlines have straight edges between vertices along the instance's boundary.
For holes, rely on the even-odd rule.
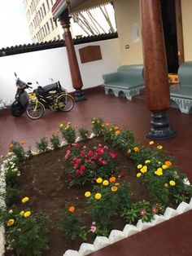
[[[78,49],[89,46],[101,46],[102,60],[96,60],[81,64]],[[111,39],[77,45],[76,55],[79,62],[83,88],[99,86],[103,84],[103,73],[115,72],[120,66],[119,40]],[[50,78],[60,81],[61,85],[68,91],[73,91],[71,75],[68,66],[66,47],[43,51],[33,51],[19,55],[10,55],[0,58],[0,100],[8,104],[15,97],[15,76],[24,82],[33,82],[33,89],[37,82],[41,86],[51,83]]]

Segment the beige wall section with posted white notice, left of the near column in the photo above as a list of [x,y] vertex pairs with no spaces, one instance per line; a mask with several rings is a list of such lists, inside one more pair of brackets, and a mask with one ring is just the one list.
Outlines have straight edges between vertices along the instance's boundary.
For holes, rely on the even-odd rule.
[[[139,0],[114,0],[121,64],[142,64],[142,34]],[[133,42],[131,25],[138,24],[139,42]],[[129,49],[125,46],[129,45]]]

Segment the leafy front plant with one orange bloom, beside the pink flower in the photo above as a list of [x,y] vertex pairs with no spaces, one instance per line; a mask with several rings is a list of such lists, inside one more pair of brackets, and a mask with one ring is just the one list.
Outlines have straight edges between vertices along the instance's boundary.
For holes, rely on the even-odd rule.
[[80,218],[75,211],[74,206],[66,205],[59,218],[59,230],[65,233],[68,240],[74,241],[76,237],[80,237],[85,241],[87,232],[85,231],[85,227],[81,225]]

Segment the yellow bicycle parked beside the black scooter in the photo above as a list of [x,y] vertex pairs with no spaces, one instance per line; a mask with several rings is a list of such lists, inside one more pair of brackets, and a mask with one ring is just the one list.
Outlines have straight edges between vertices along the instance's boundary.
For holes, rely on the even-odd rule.
[[74,106],[72,95],[69,95],[59,82],[44,87],[38,86],[28,95],[30,100],[26,113],[35,120],[43,116],[46,108],[68,112]]

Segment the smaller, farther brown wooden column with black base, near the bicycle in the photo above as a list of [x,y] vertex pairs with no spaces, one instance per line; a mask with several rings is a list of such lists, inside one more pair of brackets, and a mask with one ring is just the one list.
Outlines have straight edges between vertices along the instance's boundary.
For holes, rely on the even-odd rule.
[[68,15],[68,9],[63,11],[62,15],[59,16],[59,21],[64,30],[63,38],[65,40],[65,46],[68,53],[68,63],[72,77],[72,86],[76,90],[75,101],[79,102],[85,100],[85,95],[83,90],[81,90],[83,83],[81,79],[79,65],[76,59],[75,47],[72,42],[72,34],[70,32],[70,17]]

